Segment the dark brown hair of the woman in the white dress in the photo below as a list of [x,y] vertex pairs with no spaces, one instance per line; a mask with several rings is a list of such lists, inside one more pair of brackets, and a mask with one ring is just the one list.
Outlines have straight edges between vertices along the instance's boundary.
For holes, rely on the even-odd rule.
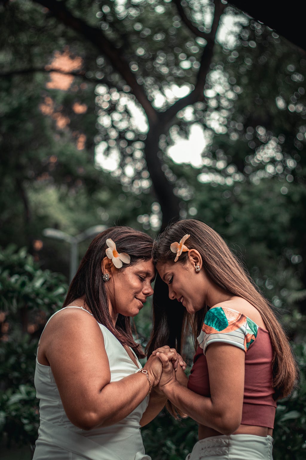
[[[111,320],[101,270],[101,262],[106,257],[107,238],[111,238],[116,243],[119,253],[129,254],[131,262],[128,266],[134,265],[140,260],[151,259],[153,240],[149,235],[130,227],[118,226],[105,230],[90,243],[69,286],[63,307],[83,297],[95,320],[106,326],[122,345],[130,346],[138,357],[143,358],[145,354],[142,347],[133,338],[130,318],[119,314],[116,326]],[[114,270],[123,271],[126,267],[127,265],[123,265],[122,268],[115,268]]]

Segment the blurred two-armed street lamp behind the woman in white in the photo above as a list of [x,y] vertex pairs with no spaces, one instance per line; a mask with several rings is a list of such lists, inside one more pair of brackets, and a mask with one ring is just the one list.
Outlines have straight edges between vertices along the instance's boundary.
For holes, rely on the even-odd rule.
[[44,236],[55,238],[56,240],[66,241],[70,244],[69,283],[72,282],[73,276],[78,268],[78,244],[90,236],[98,235],[98,233],[106,230],[106,228],[106,225],[94,225],[77,236],[68,235],[68,233],[57,229],[47,228],[43,230]]

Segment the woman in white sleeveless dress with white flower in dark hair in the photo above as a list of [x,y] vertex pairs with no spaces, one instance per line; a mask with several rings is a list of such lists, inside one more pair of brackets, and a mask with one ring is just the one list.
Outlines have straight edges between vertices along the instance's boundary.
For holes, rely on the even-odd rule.
[[[153,293],[150,236],[112,227],[96,236],[63,308],[39,341],[35,387],[40,399],[34,460],[150,460],[140,426],[165,403],[154,390],[161,362],[144,368],[134,317]],[[176,361],[173,353],[169,359]]]

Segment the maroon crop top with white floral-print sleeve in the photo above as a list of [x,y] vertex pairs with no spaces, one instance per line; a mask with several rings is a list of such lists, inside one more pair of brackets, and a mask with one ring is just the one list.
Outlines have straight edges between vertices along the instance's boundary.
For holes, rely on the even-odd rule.
[[205,356],[209,343],[217,341],[238,346],[245,350],[241,423],[273,428],[276,402],[273,399],[273,350],[269,333],[235,310],[215,307],[207,312],[198,341],[199,346],[189,376],[189,390],[210,397]]

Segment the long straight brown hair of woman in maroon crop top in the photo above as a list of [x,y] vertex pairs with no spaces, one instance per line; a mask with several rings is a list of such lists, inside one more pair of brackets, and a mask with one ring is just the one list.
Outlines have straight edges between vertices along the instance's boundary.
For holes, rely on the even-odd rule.
[[[174,263],[175,255],[170,250],[170,244],[175,241],[179,242],[186,233],[190,235],[188,247],[199,251],[203,259],[204,270],[211,281],[228,293],[247,300],[260,312],[273,347],[275,399],[288,396],[296,384],[298,375],[289,341],[273,312],[273,305],[258,292],[250,275],[245,272],[239,260],[215,230],[195,219],[181,220],[170,225],[154,242],[153,262],[156,264],[173,261]],[[187,257],[188,253],[183,252],[176,263],[184,264]],[[180,349],[184,343],[184,334],[186,334],[186,311],[182,311],[184,307],[179,302],[166,300],[168,299],[167,293],[163,294],[163,304],[161,303],[162,284],[165,286],[164,289],[167,289],[165,283],[160,279],[156,280],[153,296],[154,326],[147,347],[148,354],[158,346],[166,345],[167,341],[171,342],[170,346],[178,346]],[[193,318],[195,341],[200,333],[206,311],[207,308],[197,312]],[[174,315],[177,314],[174,327],[172,327],[174,317],[172,312]]]

